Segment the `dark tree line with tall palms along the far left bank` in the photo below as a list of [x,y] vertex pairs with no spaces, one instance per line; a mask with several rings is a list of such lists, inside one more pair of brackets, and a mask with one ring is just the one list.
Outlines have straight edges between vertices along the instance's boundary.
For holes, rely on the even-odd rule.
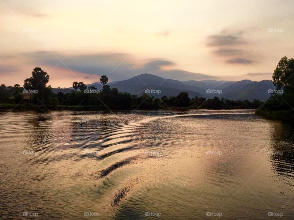
[[[15,103],[20,102],[31,103],[35,105],[44,105],[47,108],[58,108],[63,106],[79,106],[83,109],[108,109],[108,110],[134,110],[134,109],[158,109],[158,108],[201,108],[201,109],[257,109],[263,102],[254,101],[232,101],[228,99],[214,97],[206,99],[204,97],[189,98],[187,92],[181,92],[177,96],[166,97],[160,99],[150,97],[143,93],[141,96],[131,95],[130,93],[120,92],[117,88],[110,88],[106,85],[108,82],[107,76],[103,75],[100,82],[103,84],[101,91],[94,86],[85,85],[83,82],[73,82],[74,90],[70,93],[52,92],[49,82],[49,75],[40,67],[35,67],[32,71],[32,76],[24,80],[24,85],[19,84],[14,86],[1,85],[0,87],[0,102]],[[30,100],[23,100],[23,89],[35,91],[32,93]],[[90,92],[89,92],[90,91]],[[30,93],[31,95],[31,93]],[[9,99],[12,97],[13,99]]]

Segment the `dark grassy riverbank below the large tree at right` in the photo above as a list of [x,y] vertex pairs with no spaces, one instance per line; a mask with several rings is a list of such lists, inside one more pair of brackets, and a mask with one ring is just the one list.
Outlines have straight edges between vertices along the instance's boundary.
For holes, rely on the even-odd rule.
[[280,120],[283,122],[294,124],[294,111],[262,111],[257,110],[256,115],[266,119]]

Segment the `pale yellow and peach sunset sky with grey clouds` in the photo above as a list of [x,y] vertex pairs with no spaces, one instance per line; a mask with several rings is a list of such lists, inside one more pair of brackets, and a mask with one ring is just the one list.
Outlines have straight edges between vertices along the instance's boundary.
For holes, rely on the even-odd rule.
[[41,67],[49,85],[143,73],[188,80],[271,79],[294,57],[294,1],[0,0],[0,83]]

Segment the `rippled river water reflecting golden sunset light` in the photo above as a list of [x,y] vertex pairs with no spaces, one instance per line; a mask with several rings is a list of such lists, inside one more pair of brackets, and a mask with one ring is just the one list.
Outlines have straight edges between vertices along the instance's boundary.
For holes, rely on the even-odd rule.
[[3,219],[293,218],[294,127],[251,111],[0,119]]

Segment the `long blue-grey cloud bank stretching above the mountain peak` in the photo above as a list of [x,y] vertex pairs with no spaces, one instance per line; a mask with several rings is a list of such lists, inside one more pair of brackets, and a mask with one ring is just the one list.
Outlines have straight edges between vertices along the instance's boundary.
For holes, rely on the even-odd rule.
[[[120,81],[132,78],[136,75],[149,73],[163,78],[177,80],[204,80],[217,79],[218,77],[192,73],[184,70],[163,70],[162,66],[173,66],[175,63],[164,59],[153,59],[147,63],[141,64],[137,59],[126,53],[101,53],[91,55],[65,55],[54,51],[39,51],[26,53],[24,56],[31,58],[32,65],[47,65],[59,68],[77,71],[91,75],[107,75],[111,81]],[[62,63],[59,63],[60,60]],[[59,64],[58,64],[59,63]],[[65,66],[66,65],[66,66]]]

